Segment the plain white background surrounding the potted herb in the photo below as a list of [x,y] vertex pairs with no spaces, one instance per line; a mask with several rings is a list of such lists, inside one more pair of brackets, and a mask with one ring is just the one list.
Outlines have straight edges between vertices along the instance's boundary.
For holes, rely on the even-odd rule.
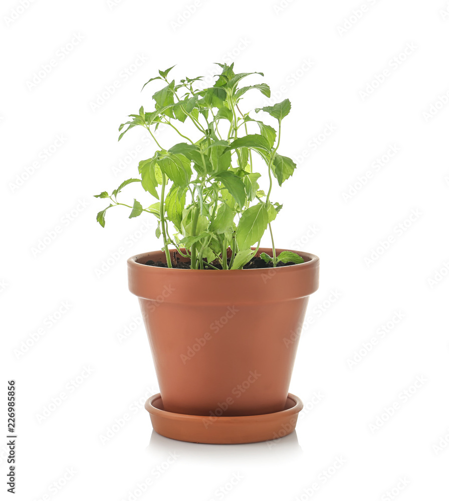
[[[0,436],[14,378],[16,498],[446,498],[449,4],[22,3],[0,13]],[[143,83],[173,64],[176,78],[210,76],[215,61],[263,71],[253,81],[291,99],[280,151],[298,169],[276,191],[276,244],[321,258],[291,383],[306,408],[274,444],[152,433],[143,402],[157,381],[126,259],[161,244],[154,221],[126,209],[105,229],[95,221],[104,200],[92,195],[154,151],[143,129],[117,143],[126,115],[151,108],[158,85],[140,93]]]

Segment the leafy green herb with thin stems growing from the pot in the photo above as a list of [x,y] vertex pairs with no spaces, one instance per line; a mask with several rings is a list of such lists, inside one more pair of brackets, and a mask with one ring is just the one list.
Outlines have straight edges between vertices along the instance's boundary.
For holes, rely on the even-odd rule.
[[[239,87],[248,75],[263,76],[263,73],[235,74],[234,64],[219,66],[221,73],[216,75],[213,86],[206,89],[195,88],[202,77],[185,78],[179,83],[169,81],[167,77],[173,67],[159,70],[159,76],[143,86],[155,80],[166,84],[153,95],[154,111],[145,112],[142,106],[138,114],[129,115],[131,120],[120,125],[119,140],[138,125],[148,130],[159,150],[139,162],[139,178],[127,179],[111,195],[106,191],[95,195],[110,201],[97,214],[97,221],[104,227],[106,211],[118,205],[131,209],[130,218],[144,212],[154,214],[158,221],[156,236],[163,238],[162,249],[169,268],[172,263],[168,246],[173,245],[180,255],[190,258],[192,269],[216,268],[217,263],[223,270],[241,269],[256,254],[267,228],[273,243],[273,258],[265,254],[263,259],[272,261],[274,267],[279,261],[302,263],[295,253],[276,256],[271,227],[282,208],[270,200],[273,179],[282,185],[296,168],[291,158],[278,153],[281,123],[290,112],[290,101],[285,99],[255,110],[276,119],[276,131],[250,117],[249,112],[243,113],[239,106],[244,95],[253,89],[270,97],[267,84]],[[185,127],[188,122],[199,137],[190,139],[188,131],[180,132],[181,125]],[[163,148],[154,135],[162,124],[172,128],[184,141]],[[250,133],[250,128],[258,133]],[[254,154],[265,163],[267,193],[258,184],[261,173],[253,170]],[[141,183],[159,201],[145,208],[136,199],[132,206],[118,202],[117,195],[133,182]],[[256,250],[251,249],[254,244]]]

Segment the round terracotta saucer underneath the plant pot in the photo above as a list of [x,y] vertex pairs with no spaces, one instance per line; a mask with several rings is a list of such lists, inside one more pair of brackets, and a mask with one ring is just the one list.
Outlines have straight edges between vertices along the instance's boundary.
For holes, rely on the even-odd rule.
[[285,409],[255,416],[192,416],[164,410],[160,393],[145,402],[154,431],[167,438],[195,443],[252,443],[289,435],[303,408],[300,398],[288,394]]

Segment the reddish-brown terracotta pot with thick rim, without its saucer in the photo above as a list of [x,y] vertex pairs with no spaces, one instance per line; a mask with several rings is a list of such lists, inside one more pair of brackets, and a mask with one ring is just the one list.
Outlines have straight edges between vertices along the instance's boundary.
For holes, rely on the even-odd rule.
[[[279,254],[285,249],[277,249]],[[261,248],[272,256],[272,249]],[[183,270],[161,251],[128,260],[165,411],[249,416],[285,409],[319,259],[275,269]]]

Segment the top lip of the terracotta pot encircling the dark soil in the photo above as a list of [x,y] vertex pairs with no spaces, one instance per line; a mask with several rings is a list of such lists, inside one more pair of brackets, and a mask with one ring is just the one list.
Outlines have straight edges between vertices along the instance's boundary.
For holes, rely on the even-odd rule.
[[[255,250],[255,247],[252,247],[252,249]],[[169,252],[172,252],[176,249],[169,248],[168,250],[169,250]],[[260,253],[266,252],[266,250],[267,249],[265,247],[259,249]],[[302,258],[308,258],[309,260],[305,261],[304,263],[298,263],[297,265],[281,266],[279,268],[276,268],[276,273],[289,273],[289,270],[290,270],[290,272],[297,271],[297,270],[299,270],[299,267],[304,268],[304,269],[305,268],[313,268],[313,267],[317,266],[317,264],[320,261],[320,258],[318,256],[315,256],[315,254],[304,252],[303,250],[292,250],[292,249],[283,249],[283,248],[276,249],[277,253],[281,253],[284,250],[288,250],[289,252],[293,252],[293,253],[297,254],[298,256],[301,256]],[[136,254],[135,256],[131,256],[127,260],[128,266],[133,267],[136,270],[141,268],[141,267],[145,267],[145,269],[151,269],[152,273],[158,273],[158,272],[165,272],[166,273],[167,270],[173,270],[173,271],[169,271],[168,273],[173,273],[173,272],[176,272],[176,273],[190,272],[190,273],[192,273],[192,272],[194,272],[194,273],[198,274],[198,273],[203,273],[203,272],[207,271],[208,276],[211,276],[212,274],[213,275],[216,275],[216,274],[223,275],[223,272],[237,276],[237,275],[242,275],[242,273],[247,274],[248,272],[267,273],[270,270],[274,270],[274,268],[251,268],[249,270],[192,270],[191,268],[187,268],[187,269],[185,269],[185,268],[162,268],[162,267],[158,267],[158,266],[148,266],[148,265],[145,265],[143,263],[137,262],[140,259],[148,257],[153,252],[160,252],[163,255],[162,250],[150,250],[149,252]],[[258,254],[259,254],[259,252],[256,254],[256,256]],[[273,254],[273,253],[271,253],[271,254]]]

